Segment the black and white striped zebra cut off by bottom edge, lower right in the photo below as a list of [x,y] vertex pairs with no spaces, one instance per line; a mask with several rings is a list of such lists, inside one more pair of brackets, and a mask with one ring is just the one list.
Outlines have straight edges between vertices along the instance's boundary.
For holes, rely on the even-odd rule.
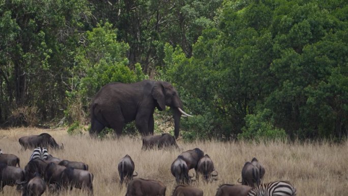
[[251,189],[248,196],[296,196],[296,188],[288,181],[275,181]]

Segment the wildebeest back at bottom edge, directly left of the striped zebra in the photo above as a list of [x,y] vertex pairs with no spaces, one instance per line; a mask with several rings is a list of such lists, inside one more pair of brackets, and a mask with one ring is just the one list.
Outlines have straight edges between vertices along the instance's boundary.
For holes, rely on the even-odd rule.
[[215,196],[247,196],[252,187],[247,185],[222,184]]

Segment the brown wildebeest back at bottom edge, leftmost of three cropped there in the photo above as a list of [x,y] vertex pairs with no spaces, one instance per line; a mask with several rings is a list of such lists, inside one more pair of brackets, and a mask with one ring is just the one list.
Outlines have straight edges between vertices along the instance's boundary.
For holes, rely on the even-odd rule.
[[129,183],[126,196],[165,196],[165,190],[160,181],[135,178]]

